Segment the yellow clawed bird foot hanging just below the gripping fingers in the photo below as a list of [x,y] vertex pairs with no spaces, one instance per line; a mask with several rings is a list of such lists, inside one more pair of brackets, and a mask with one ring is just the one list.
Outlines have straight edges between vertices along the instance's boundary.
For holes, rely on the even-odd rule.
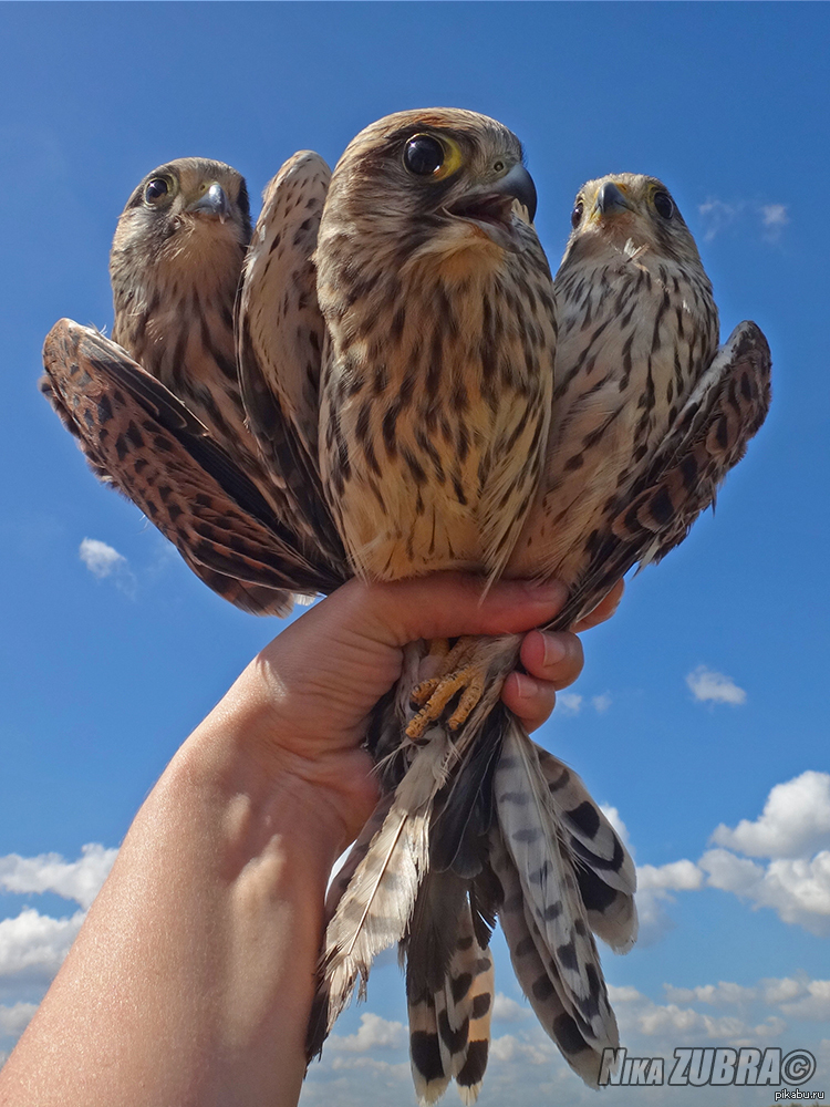
[[447,721],[450,731],[457,731],[481,699],[487,676],[487,666],[475,660],[478,639],[459,638],[453,649],[446,639],[435,639],[429,643],[428,659],[440,661],[436,676],[416,685],[409,699],[421,711],[406,727],[409,738],[419,738],[427,725],[440,718],[453,697],[460,692],[460,699]]

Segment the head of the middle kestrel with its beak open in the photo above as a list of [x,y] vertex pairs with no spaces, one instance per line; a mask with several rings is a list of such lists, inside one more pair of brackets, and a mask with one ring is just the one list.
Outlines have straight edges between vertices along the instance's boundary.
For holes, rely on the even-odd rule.
[[342,228],[370,249],[394,242],[403,263],[424,250],[522,250],[535,211],[516,135],[486,115],[433,107],[388,115],[349,144],[323,232]]

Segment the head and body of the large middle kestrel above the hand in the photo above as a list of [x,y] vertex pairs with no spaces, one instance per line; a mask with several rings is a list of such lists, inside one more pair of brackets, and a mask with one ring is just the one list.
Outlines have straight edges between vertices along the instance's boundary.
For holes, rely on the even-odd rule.
[[[416,172],[413,151],[444,162]],[[515,135],[470,112],[382,120],[334,170],[317,251],[321,463],[362,576],[497,575],[516,542],[556,349],[548,262],[512,210],[531,190]]]

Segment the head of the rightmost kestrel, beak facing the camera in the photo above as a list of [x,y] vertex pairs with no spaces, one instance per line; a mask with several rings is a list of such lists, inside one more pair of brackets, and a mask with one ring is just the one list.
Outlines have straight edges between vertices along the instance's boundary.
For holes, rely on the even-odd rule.
[[656,177],[614,173],[580,188],[571,213],[573,230],[566,258],[604,252],[654,250],[661,258],[701,266],[692,232],[668,189]]

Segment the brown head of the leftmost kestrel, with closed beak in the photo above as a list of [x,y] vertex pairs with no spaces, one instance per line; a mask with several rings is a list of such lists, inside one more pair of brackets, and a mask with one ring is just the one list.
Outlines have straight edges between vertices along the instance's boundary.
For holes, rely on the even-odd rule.
[[[110,276],[118,310],[121,289],[151,278],[180,293],[205,279],[238,281],[250,238],[243,177],[224,162],[181,157],[142,180],[118,219]],[[178,280],[177,278],[180,278]]]

